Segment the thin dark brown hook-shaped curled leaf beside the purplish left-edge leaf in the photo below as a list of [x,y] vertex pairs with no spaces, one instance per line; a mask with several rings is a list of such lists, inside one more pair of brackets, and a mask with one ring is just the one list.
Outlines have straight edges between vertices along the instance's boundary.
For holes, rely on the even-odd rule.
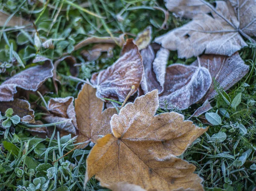
[[77,76],[78,75],[78,69],[77,67],[74,67],[74,64],[76,64],[76,58],[73,57],[73,56],[64,56],[60,59],[58,59],[57,61],[54,62],[54,69],[53,69],[53,84],[54,84],[54,88],[55,88],[55,93],[58,94],[58,84],[57,84],[57,81],[58,81],[58,78],[57,78],[57,67],[58,65],[62,62],[62,61],[66,61],[67,64],[70,65],[70,73],[73,75],[73,76]]

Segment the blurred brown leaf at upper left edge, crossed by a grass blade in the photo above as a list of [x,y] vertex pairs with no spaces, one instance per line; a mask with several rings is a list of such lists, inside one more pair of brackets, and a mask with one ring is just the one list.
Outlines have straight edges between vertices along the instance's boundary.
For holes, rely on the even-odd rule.
[[[0,26],[4,26],[6,23],[6,20],[10,17],[9,14],[0,11]],[[15,17],[13,16],[11,20],[6,24],[6,26],[26,26],[26,25],[32,25],[29,21],[24,20],[21,17]]]

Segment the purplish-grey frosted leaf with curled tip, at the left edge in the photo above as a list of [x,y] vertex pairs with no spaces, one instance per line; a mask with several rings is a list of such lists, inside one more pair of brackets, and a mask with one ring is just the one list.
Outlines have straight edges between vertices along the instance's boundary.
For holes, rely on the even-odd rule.
[[23,90],[36,91],[44,81],[52,77],[53,64],[51,60],[37,57],[33,62],[43,61],[44,65],[30,67],[4,81],[0,85],[0,101],[13,101],[13,95],[17,93],[17,87]]

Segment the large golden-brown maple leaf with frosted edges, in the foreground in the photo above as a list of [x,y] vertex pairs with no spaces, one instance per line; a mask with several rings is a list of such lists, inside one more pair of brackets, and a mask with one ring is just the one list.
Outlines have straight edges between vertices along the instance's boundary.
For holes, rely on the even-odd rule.
[[154,90],[112,116],[113,134],[98,139],[87,158],[86,182],[96,175],[105,187],[128,182],[146,190],[204,190],[202,179],[193,173],[195,166],[175,156],[207,129],[175,112],[154,116],[158,106]]

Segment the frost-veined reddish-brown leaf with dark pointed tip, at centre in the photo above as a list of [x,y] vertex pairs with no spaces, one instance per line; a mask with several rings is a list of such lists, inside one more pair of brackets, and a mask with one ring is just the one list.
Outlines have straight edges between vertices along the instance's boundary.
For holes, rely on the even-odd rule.
[[124,101],[131,87],[140,86],[143,76],[142,58],[132,39],[128,39],[121,57],[107,69],[93,74],[91,83],[96,87],[98,98]]

